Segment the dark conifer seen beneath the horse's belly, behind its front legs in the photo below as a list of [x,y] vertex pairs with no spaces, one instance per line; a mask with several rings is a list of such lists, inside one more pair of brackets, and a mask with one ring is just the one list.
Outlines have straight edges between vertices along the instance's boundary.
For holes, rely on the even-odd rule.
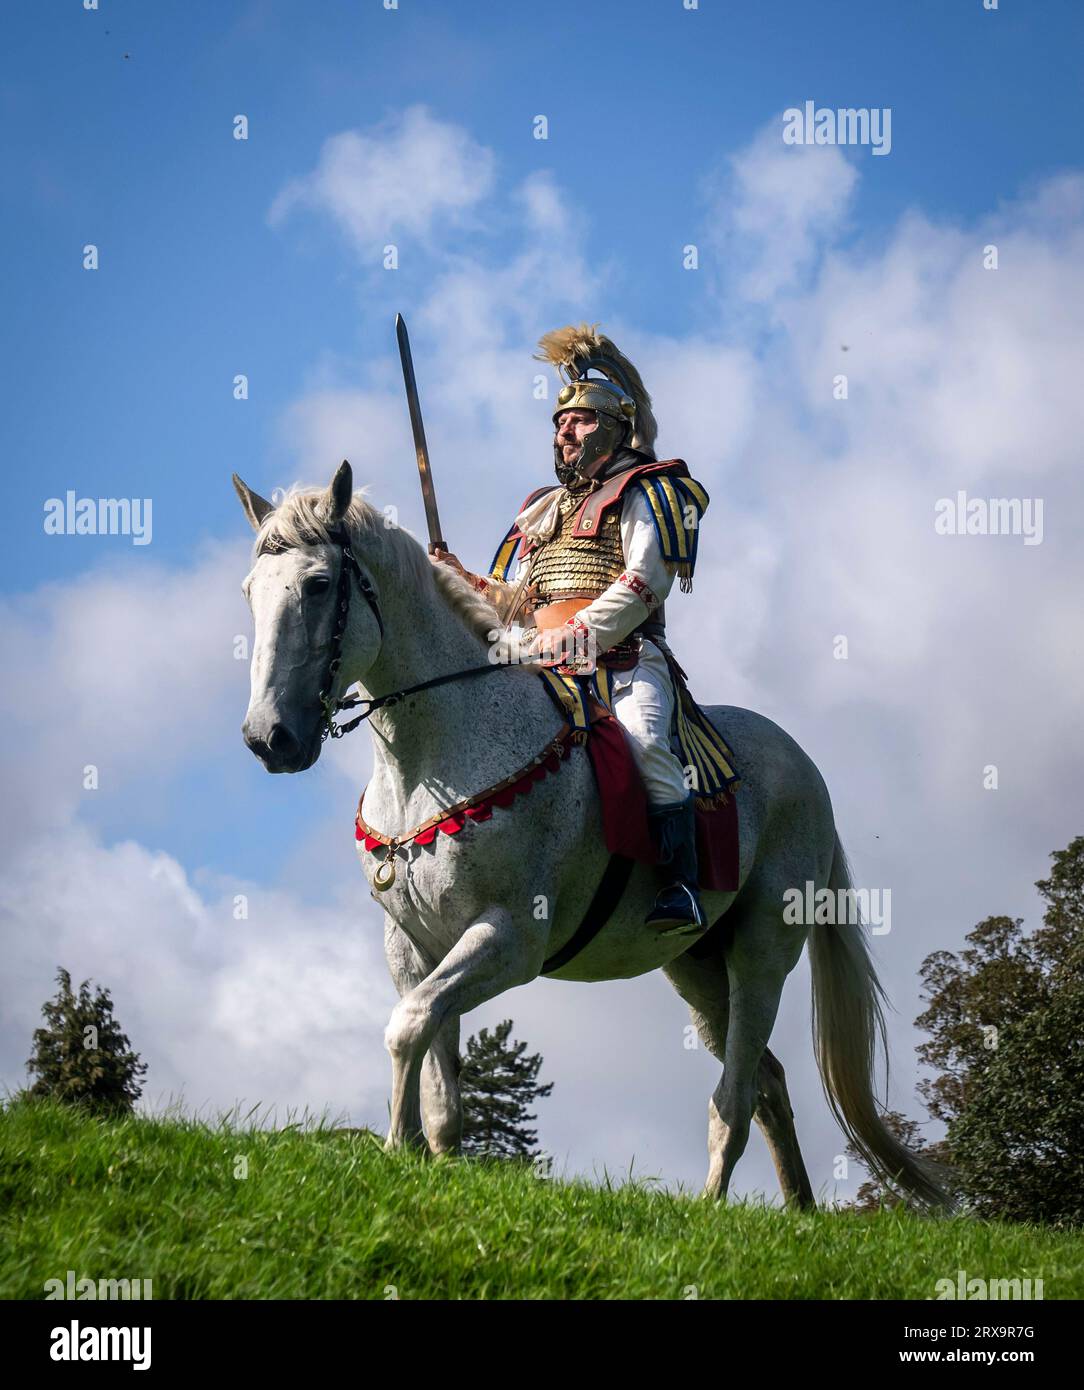
[[482,1029],[467,1038],[467,1052],[460,1063],[463,1097],[463,1152],[474,1156],[536,1156],[538,1133],[528,1129],[535,1119],[529,1106],[553,1090],[553,1083],[538,1084],[542,1055],[524,1056],[525,1042],[509,1042],[511,1019],[504,1019],[491,1033]]

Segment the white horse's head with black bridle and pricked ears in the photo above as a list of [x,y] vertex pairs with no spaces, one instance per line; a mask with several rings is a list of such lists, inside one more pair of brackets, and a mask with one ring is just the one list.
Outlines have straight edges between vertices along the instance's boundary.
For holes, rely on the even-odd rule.
[[295,492],[279,507],[236,474],[233,486],[257,532],[242,585],[256,624],[242,733],[268,771],[299,773],[320,756],[327,701],[361,680],[381,648],[371,581],[343,550],[357,521],[350,464],[327,492]]

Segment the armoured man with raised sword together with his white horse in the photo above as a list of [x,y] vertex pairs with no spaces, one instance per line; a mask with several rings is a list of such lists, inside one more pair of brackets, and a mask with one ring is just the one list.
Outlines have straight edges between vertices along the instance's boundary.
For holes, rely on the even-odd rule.
[[[397,329],[435,555],[446,546],[402,318]],[[784,910],[794,884],[855,894],[824,778],[771,720],[696,705],[666,645],[662,600],[674,577],[689,587],[707,496],[681,460],[655,459],[650,402],[613,343],[568,328],[542,348],[567,378],[555,411],[559,481],[527,499],[489,575],[470,577],[493,606],[474,602],[450,571],[403,584],[425,564],[421,548],[354,495],[346,461],[327,489],[292,489],[278,507],[233,477],[257,532],[245,581],[256,626],[245,741],[268,771],[296,773],[324,738],[379,720],[370,720],[374,770],[354,840],[384,906],[400,995],[384,1034],[386,1147],[459,1147],[460,1019],[473,1009],[539,976],[624,980],[662,967],[724,1061],[706,1193],[725,1197],[756,1119],[784,1198],[813,1207],[782,1068],[767,1049],[784,981],[809,942],[816,1058],[834,1115],[878,1180],[916,1205],[948,1205],[938,1169],[878,1113],[882,991],[863,926],[849,915],[795,923]],[[536,670],[486,662],[485,644],[491,657],[516,646],[493,642],[496,610],[525,632],[534,626],[527,645],[542,653],[582,630],[602,653],[586,663],[595,669],[548,656]],[[346,695],[354,684],[360,694]],[[407,698],[438,689],[436,709]],[[566,714],[556,735],[550,696]],[[588,758],[570,756],[595,701],[630,734],[657,855],[643,842],[643,801],[611,723],[598,721]],[[714,720],[732,730],[750,773],[741,816]],[[588,840],[600,823],[605,835]],[[477,834],[461,833],[470,824]],[[652,858],[666,863],[657,895],[643,867]],[[702,931],[695,954],[688,940],[668,940],[705,919],[724,930]]]

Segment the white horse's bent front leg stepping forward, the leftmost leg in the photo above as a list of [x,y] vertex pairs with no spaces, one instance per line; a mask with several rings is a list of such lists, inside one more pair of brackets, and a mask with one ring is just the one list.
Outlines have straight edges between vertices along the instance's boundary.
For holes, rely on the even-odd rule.
[[529,917],[517,922],[506,908],[491,908],[395,1006],[384,1033],[392,1058],[388,1148],[414,1138],[421,1068],[442,1026],[538,974],[546,948],[546,933],[538,927]]

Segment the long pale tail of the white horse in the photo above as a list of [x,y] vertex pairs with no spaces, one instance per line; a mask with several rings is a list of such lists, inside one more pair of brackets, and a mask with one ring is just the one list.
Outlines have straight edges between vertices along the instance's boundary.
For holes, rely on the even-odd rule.
[[[851,890],[839,835],[828,888],[835,902]],[[949,1170],[902,1144],[884,1125],[873,1094],[877,1040],[888,1058],[881,1002],[884,990],[870,960],[862,923],[851,913],[831,926],[813,926],[809,960],[813,974],[813,1048],[824,1094],[839,1127],[863,1163],[882,1183],[905,1193],[921,1209],[952,1207]]]

